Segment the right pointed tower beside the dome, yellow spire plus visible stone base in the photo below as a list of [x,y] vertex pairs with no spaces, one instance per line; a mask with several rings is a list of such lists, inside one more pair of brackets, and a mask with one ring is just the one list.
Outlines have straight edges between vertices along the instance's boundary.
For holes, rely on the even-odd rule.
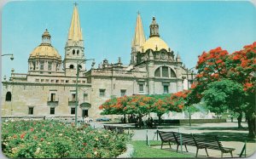
[[131,65],[135,65],[136,54],[138,51],[141,51],[143,43],[145,43],[146,39],[143,31],[143,22],[140,13],[137,14],[137,21],[135,27],[135,35],[131,42]]

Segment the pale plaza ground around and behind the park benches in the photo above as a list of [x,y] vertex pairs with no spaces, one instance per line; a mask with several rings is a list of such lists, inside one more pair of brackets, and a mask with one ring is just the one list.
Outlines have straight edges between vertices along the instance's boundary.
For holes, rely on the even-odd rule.
[[[91,123],[95,128],[102,128],[104,123],[93,122]],[[232,147],[236,150],[233,151],[233,157],[239,157],[245,142],[247,142],[247,150],[246,156],[252,156],[256,150],[255,139],[247,138],[247,122],[242,122],[241,129],[237,128],[237,122],[220,122],[220,123],[192,123],[191,127],[189,125],[181,125],[181,126],[168,126],[168,127],[158,127],[154,129],[132,129],[131,124],[112,124],[118,125],[122,127],[131,128],[130,131],[134,132],[132,137],[133,141],[136,140],[146,140],[148,134],[149,144],[151,140],[157,140],[160,138],[156,136],[155,132],[157,129],[160,131],[173,131],[180,133],[201,133],[201,134],[211,134],[218,135],[224,147]],[[151,141],[152,142],[152,141]],[[146,142],[145,142],[146,145]],[[160,149],[160,145],[151,145],[152,148]],[[163,149],[166,151],[176,152],[177,145],[172,145],[170,149],[169,145],[164,145]],[[189,156],[195,156],[196,148],[195,146],[188,146],[189,152],[185,152],[185,148],[183,147],[183,154]],[[178,150],[181,153],[181,148]],[[220,150],[208,150],[208,154],[210,157],[220,157]],[[171,154],[170,154],[171,155]],[[205,150],[199,150],[199,157],[206,157],[207,153]],[[146,157],[146,156],[145,156]],[[171,156],[172,157],[172,156]],[[224,154],[224,157],[230,157],[230,153]]]

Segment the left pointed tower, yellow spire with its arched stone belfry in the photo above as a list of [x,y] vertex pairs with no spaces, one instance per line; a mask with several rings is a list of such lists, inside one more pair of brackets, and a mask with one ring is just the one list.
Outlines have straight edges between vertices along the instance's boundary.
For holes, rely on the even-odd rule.
[[73,7],[73,15],[67,35],[65,47],[64,71],[67,76],[76,76],[77,65],[79,70],[85,70],[84,40],[80,27],[79,11],[77,4]]

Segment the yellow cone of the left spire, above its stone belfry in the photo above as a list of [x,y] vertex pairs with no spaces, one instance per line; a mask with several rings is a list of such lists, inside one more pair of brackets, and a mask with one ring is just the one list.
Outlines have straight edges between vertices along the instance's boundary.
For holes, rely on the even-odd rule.
[[72,40],[72,41],[83,40],[82,31],[80,27],[80,20],[79,20],[79,11],[76,3],[73,8],[71,25],[68,31],[68,40]]

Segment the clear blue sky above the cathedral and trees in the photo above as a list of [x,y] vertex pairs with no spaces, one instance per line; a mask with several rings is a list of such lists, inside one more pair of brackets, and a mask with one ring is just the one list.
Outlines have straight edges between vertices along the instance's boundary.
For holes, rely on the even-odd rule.
[[[139,10],[145,36],[149,36],[152,16],[160,25],[160,37],[179,53],[189,68],[196,65],[203,51],[222,47],[230,53],[256,41],[256,9],[245,1],[77,1],[87,59],[103,59],[124,64],[131,59],[131,40]],[[64,58],[73,1],[20,1],[2,9],[2,54],[15,54],[15,60],[3,57],[2,76],[27,72],[27,60],[41,43],[45,28],[52,45]],[[88,61],[87,69],[90,68]]]

